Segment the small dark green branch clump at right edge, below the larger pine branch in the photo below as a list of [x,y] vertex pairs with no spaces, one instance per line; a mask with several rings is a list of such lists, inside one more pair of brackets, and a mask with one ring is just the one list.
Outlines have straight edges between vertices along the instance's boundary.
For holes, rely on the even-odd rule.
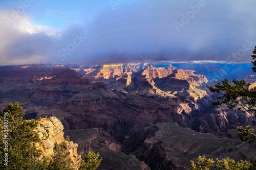
[[245,129],[238,127],[238,137],[240,137],[241,141],[256,143],[256,135],[252,133],[253,131],[249,125]]

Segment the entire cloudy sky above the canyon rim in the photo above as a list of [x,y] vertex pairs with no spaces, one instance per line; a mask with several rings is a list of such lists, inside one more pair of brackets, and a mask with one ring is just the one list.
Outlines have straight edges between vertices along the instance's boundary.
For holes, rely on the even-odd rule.
[[0,0],[0,65],[250,62],[254,0]]

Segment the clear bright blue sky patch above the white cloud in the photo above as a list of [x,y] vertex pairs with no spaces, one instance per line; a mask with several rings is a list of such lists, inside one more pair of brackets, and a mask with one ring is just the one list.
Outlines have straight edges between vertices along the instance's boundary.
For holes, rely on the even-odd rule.
[[[27,1],[22,1],[27,2]],[[28,1],[29,2],[29,1]],[[109,6],[108,1],[40,1],[30,3],[26,9],[34,25],[66,29],[69,25],[93,18],[100,10]],[[16,9],[20,1],[1,1],[2,9]]]

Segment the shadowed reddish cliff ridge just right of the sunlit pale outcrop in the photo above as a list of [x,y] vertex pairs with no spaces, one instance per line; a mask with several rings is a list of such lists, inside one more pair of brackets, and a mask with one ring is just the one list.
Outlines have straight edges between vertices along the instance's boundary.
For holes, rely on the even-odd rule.
[[101,128],[68,130],[65,134],[78,143],[79,154],[88,151],[99,152],[102,161],[98,169],[150,170],[144,161],[138,160],[134,155],[122,153],[123,149],[118,142]]

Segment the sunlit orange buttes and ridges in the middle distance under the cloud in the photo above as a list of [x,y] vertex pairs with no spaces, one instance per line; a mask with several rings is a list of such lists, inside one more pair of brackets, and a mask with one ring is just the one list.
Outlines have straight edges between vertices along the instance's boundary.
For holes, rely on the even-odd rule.
[[197,75],[194,72],[177,69],[172,64],[159,68],[147,63],[104,64],[84,76],[93,81],[102,81],[110,89],[132,95],[178,96],[197,101],[207,95],[205,89],[208,80],[204,75]]

